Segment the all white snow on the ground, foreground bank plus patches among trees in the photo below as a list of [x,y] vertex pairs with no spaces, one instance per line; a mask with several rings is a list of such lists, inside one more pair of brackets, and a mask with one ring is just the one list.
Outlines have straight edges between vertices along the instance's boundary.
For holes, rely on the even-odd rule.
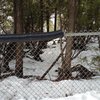
[[[60,45],[51,44],[50,42],[48,49],[44,49],[44,53],[41,55],[41,58],[44,60],[43,62],[24,58],[24,75],[43,75],[60,53]],[[86,51],[83,51],[72,61],[72,66],[82,64],[89,70],[91,70],[91,66],[94,68],[95,66],[91,64],[91,59],[95,55],[100,55],[100,51],[95,49],[97,46],[97,43],[90,44]],[[15,61],[13,60],[10,62],[11,69],[14,69],[14,65]],[[50,81],[50,79],[57,78],[57,72],[55,70],[60,65],[61,59],[47,74],[46,79],[48,80],[39,81],[35,77],[20,79],[15,76],[1,80],[0,100],[100,100],[99,76],[89,80]]]

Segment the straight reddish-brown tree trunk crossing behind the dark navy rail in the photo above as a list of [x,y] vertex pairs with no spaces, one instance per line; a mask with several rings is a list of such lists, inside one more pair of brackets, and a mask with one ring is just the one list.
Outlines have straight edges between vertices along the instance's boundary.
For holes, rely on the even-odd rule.
[[[22,10],[23,0],[14,0],[14,29],[15,34],[23,33]],[[15,74],[18,77],[23,77],[23,43],[16,43],[16,68]]]

